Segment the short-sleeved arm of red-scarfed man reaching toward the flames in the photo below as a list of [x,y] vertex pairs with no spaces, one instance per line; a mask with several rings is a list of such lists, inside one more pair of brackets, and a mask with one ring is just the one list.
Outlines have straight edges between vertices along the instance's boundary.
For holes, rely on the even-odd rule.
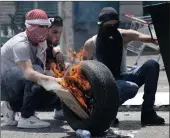
[[[38,83],[47,89],[48,84],[53,83],[56,85],[56,82],[60,79],[54,78],[51,76],[46,76],[42,73],[33,70],[33,65],[30,60],[29,55],[29,46],[23,42],[18,43],[13,48],[14,61],[24,73],[24,77],[27,80]],[[48,87],[48,89],[51,89]]]

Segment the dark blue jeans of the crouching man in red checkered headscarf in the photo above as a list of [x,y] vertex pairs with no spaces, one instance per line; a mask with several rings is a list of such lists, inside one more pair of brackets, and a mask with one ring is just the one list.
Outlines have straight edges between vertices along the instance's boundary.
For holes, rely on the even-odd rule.
[[[33,69],[44,74],[38,65],[34,65]],[[61,109],[60,99],[55,93],[26,80],[19,68],[12,68],[1,76],[1,88],[1,100],[8,101],[11,108],[20,111],[24,118],[34,115],[35,110]]]

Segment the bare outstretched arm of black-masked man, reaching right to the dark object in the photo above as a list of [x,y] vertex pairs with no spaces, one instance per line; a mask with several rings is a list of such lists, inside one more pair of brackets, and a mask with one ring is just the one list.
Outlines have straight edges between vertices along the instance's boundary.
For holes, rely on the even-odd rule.
[[135,30],[121,29],[121,33],[125,42],[142,41],[145,43],[154,43],[156,45],[158,44],[158,41],[156,39],[152,39],[151,35],[143,34]]

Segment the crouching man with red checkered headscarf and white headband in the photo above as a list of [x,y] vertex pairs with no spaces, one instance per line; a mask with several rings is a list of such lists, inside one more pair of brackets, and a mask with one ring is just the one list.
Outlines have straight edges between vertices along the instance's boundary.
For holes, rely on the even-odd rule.
[[[51,22],[45,11],[26,14],[26,30],[8,40],[1,48],[1,111],[5,125],[19,128],[44,128],[50,123],[35,116],[35,111],[60,104],[50,84],[60,78],[45,75],[46,39]],[[21,112],[17,122],[15,112]]]

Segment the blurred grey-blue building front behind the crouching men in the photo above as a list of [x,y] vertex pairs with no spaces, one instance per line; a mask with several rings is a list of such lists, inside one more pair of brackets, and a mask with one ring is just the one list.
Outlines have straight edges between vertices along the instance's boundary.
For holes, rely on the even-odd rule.
[[[64,19],[62,44],[71,45],[76,50],[97,33],[97,20],[105,6],[114,7],[120,14],[121,27],[129,28],[131,21],[124,14],[143,16],[143,6],[159,1],[100,1],[100,2],[57,2],[57,1],[0,1],[0,44],[24,30],[25,13],[40,8],[49,16],[60,15]],[[63,37],[62,37],[63,38]]]

